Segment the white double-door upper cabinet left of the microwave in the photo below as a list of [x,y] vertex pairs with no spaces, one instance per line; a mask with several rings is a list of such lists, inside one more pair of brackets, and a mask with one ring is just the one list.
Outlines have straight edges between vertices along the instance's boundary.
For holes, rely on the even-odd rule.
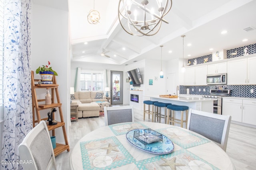
[[184,84],[186,86],[206,85],[207,65],[186,68]]

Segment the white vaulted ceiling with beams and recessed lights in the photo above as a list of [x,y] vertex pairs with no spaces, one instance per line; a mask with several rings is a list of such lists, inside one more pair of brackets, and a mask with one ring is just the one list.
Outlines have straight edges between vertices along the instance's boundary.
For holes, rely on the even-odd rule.
[[[186,59],[256,43],[256,0],[172,0],[172,9],[164,17],[169,24],[162,23],[154,36],[142,37],[122,29],[118,2],[69,0],[72,61],[124,65],[145,58],[160,60],[160,45],[164,45],[164,61],[182,58],[181,35],[186,35]],[[100,12],[98,24],[87,21],[93,7]],[[252,31],[245,31],[247,27],[252,27]],[[227,33],[221,34],[223,30]],[[101,56],[102,51],[109,51],[106,55],[110,58]]]

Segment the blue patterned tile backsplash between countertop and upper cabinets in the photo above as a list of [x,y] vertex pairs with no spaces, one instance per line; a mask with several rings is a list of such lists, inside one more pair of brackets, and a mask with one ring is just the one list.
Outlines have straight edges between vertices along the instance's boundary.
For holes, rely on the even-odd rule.
[[[186,94],[187,88],[191,95],[210,95],[210,89],[217,89],[217,86],[180,86],[180,94]],[[230,90],[231,97],[256,98],[256,85],[226,85],[225,88]]]

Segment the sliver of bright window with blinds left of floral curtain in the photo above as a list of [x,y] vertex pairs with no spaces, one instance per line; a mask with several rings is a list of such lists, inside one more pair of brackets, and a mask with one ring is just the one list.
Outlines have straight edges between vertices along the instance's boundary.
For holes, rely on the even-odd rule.
[[4,117],[4,0],[0,0],[0,119]]

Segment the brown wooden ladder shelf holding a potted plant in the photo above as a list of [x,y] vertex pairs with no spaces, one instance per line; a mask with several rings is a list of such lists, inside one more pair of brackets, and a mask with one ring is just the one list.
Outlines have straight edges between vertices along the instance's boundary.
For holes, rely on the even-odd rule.
[[[35,82],[37,82],[37,83],[35,83]],[[60,96],[59,96],[59,92],[58,92],[59,85],[56,82],[55,76],[53,76],[53,78],[52,78],[53,84],[38,84],[38,82],[39,82],[38,79],[34,79],[34,71],[31,71],[32,107],[34,107],[34,109],[32,111],[33,127],[35,127],[36,123],[39,123],[40,121],[45,121],[48,119],[48,117],[41,118],[40,110],[52,109],[52,108],[58,107],[59,113],[60,113],[60,121],[58,121],[57,125],[49,125],[49,123],[47,123],[48,130],[52,131],[52,136],[55,136],[56,128],[62,127],[62,131],[63,131],[63,135],[64,135],[64,139],[65,139],[65,145],[56,143],[56,148],[54,149],[54,155],[57,156],[64,150],[70,151],[69,145],[68,145],[68,139],[67,139],[67,135],[66,135],[65,122],[63,119],[63,114],[62,114],[62,109],[61,109],[62,104],[60,103]],[[45,104],[45,99],[38,100],[37,96],[36,96],[36,89],[47,89],[47,88],[51,89],[51,92],[52,92],[51,93],[52,104],[49,104],[49,105]],[[57,103],[54,102],[54,91],[56,94]],[[38,102],[40,102],[40,104],[38,104]],[[35,119],[35,114],[36,114],[37,119]],[[53,115],[53,119],[54,119],[54,115]]]

